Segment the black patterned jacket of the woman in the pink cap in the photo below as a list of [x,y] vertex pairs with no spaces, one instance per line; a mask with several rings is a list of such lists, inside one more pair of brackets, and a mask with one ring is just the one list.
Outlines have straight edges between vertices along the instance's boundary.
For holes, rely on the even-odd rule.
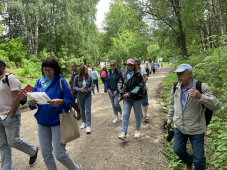
[[[120,97],[123,97],[125,93],[128,93],[131,100],[143,99],[145,84],[143,77],[139,72],[133,75],[129,80],[127,80],[127,77],[123,75],[119,80],[117,87],[120,93]],[[132,92],[135,88],[139,88],[139,90],[134,90],[134,92]]]

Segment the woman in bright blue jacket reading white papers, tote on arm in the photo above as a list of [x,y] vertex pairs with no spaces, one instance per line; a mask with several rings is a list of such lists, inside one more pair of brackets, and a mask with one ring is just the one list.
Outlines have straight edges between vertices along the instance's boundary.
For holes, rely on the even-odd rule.
[[[66,152],[65,144],[60,143],[61,131],[59,114],[73,106],[74,98],[69,85],[61,76],[60,67],[56,59],[48,57],[42,62],[42,78],[37,80],[33,92],[45,92],[49,104],[39,105],[34,99],[29,100],[30,109],[38,109],[35,118],[38,122],[38,137],[40,150],[48,170],[57,170],[55,158],[67,169],[80,170],[81,165],[74,163]],[[52,145],[53,142],[53,145]],[[53,153],[54,155],[53,155]]]

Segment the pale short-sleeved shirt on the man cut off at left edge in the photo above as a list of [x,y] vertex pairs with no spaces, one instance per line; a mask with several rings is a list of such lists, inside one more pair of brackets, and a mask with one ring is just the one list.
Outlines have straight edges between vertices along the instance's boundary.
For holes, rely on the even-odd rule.
[[[9,75],[9,73],[6,73],[6,74]],[[13,104],[13,95],[11,91],[21,90],[21,82],[18,80],[18,78],[15,75],[10,74],[8,76],[9,86],[7,83],[3,83],[2,80],[4,79],[5,79],[5,76],[0,80],[0,94],[1,94],[0,95],[0,118],[2,120],[4,120],[8,116]],[[21,113],[21,110],[19,106],[15,115],[20,113]]]

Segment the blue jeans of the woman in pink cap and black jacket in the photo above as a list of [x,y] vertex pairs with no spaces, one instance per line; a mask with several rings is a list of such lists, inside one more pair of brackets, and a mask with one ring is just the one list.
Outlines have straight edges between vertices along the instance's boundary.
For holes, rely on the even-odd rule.
[[131,113],[131,109],[133,107],[134,109],[134,115],[135,115],[135,123],[136,127],[135,130],[140,130],[141,127],[141,104],[142,100],[123,100],[123,120],[122,120],[122,132],[127,134],[128,130],[128,121]]

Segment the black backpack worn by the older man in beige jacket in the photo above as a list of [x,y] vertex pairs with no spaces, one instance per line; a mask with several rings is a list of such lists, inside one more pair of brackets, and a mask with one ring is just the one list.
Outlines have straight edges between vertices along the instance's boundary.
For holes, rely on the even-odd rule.
[[[197,81],[196,82],[196,89],[201,93],[201,94],[203,94],[202,93],[202,81]],[[178,84],[178,82],[176,82],[175,84],[174,84],[174,86],[173,86],[173,92],[175,93],[175,91],[176,91],[176,87],[177,87],[177,84]],[[210,121],[211,121],[211,118],[212,118],[212,115],[213,115],[213,110],[210,110],[210,109],[208,109],[206,106],[204,106],[203,104],[202,104],[202,106],[203,106],[203,109],[205,108],[206,109],[206,111],[205,111],[205,119],[206,119],[206,126],[207,125],[209,125],[210,124]]]

